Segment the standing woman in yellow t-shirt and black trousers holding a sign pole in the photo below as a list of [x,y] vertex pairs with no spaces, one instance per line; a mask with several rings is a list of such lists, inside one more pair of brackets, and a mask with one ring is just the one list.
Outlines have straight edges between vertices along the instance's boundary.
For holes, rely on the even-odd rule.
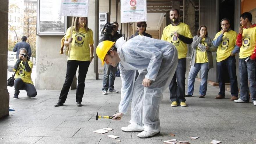
[[93,31],[88,28],[88,18],[76,17],[72,28],[72,38],[70,29],[71,27],[67,29],[64,42],[65,46],[71,44],[70,57],[67,58],[66,79],[60,93],[59,101],[54,106],[63,106],[65,103],[74,75],[77,72],[77,67],[79,67],[79,71],[76,102],[77,106],[82,106],[84,81],[90,62],[93,59]]

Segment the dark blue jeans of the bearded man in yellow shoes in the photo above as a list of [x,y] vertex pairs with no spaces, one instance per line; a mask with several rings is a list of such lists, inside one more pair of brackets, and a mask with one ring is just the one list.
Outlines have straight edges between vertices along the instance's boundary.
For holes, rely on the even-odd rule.
[[185,74],[186,74],[186,58],[178,61],[178,66],[169,85],[170,99],[172,102],[185,102]]

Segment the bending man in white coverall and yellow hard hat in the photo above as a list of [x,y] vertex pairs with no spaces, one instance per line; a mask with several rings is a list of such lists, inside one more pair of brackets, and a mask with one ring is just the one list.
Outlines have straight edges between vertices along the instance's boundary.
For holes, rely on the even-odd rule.
[[[159,104],[163,91],[175,73],[178,54],[169,42],[138,35],[127,42],[123,37],[115,42],[103,41],[96,48],[97,56],[116,66],[119,62],[122,79],[119,120],[128,110],[131,101],[130,125],[122,127],[125,132],[142,131],[140,138],[149,138],[160,133]],[[135,81],[136,70],[139,76]]]

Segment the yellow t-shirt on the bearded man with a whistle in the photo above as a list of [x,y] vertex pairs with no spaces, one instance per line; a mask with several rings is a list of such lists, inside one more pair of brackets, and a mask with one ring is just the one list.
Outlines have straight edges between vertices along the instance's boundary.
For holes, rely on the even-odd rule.
[[187,44],[179,40],[179,38],[174,36],[174,33],[179,33],[180,35],[183,35],[188,38],[192,38],[189,26],[187,24],[184,24],[180,22],[177,26],[173,26],[172,24],[169,24],[163,29],[163,34],[161,40],[165,40],[167,42],[172,43],[177,51],[178,51],[178,58],[186,58],[188,47]]

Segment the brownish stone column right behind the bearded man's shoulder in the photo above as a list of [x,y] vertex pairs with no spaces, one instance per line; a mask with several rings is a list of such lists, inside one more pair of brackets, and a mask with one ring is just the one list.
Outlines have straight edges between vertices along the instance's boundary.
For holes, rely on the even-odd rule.
[[196,35],[195,29],[195,0],[183,0],[183,22],[188,24],[192,35]]

